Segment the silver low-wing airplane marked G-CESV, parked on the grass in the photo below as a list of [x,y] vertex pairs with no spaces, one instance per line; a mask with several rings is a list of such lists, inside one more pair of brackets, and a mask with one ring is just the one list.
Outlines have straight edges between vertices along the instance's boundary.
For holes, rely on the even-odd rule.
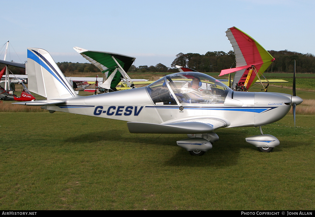
[[[259,127],[261,135],[246,141],[270,152],[279,140],[263,134],[261,126],[282,119],[300,97],[272,92],[233,91],[199,72],[166,75],[141,88],[79,96],[50,54],[28,48],[29,90],[47,100],[15,103],[55,111],[128,121],[131,133],[187,134],[177,145],[192,155],[203,155],[219,137],[221,127]],[[114,58],[114,57],[113,57]],[[119,65],[119,64],[118,64]]]

